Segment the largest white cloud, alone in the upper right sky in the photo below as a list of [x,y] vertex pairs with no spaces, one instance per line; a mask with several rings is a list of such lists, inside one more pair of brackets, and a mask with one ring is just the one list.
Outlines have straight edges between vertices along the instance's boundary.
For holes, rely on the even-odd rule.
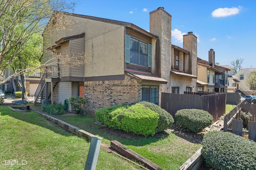
[[236,15],[240,12],[241,8],[241,6],[238,8],[218,8],[212,12],[212,17],[226,17]]

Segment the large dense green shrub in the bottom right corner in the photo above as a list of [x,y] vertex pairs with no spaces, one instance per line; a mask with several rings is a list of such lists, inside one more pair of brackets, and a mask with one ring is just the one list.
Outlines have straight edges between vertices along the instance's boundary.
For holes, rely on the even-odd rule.
[[255,170],[256,143],[239,135],[210,131],[202,141],[202,156],[214,170]]

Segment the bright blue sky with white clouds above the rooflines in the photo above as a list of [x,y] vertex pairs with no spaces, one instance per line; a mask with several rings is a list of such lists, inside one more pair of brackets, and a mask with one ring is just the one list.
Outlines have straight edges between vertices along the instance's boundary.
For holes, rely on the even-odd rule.
[[256,68],[256,0],[80,0],[74,13],[133,23],[149,31],[149,12],[158,7],[172,16],[172,44],[183,47],[182,35],[198,37],[198,54],[242,68]]

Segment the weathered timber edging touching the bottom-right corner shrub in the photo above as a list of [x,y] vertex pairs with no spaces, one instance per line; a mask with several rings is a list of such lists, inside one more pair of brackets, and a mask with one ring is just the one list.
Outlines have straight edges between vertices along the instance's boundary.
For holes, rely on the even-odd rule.
[[202,147],[196,151],[179,170],[198,170],[204,163],[204,158],[201,154]]

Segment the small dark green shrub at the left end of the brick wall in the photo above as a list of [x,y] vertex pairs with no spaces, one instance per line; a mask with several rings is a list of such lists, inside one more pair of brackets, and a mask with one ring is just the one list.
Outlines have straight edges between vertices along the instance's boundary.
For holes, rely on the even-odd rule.
[[76,113],[80,115],[84,115],[86,103],[87,103],[87,100],[80,96],[78,97],[72,96],[69,98],[69,104],[71,105],[72,109],[75,109]]

